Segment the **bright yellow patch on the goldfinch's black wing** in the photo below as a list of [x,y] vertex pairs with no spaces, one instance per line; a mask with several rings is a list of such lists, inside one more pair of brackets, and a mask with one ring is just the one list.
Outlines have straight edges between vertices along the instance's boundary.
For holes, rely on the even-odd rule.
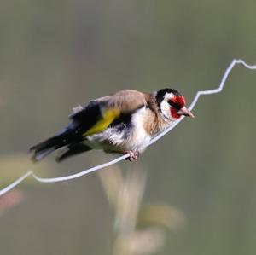
[[119,117],[120,111],[117,108],[110,108],[108,110],[105,110],[102,115],[102,119],[100,119],[96,123],[96,125],[91,127],[90,130],[87,130],[84,133],[84,136],[91,136],[101,132],[102,130],[107,129],[108,125],[110,125],[114,119],[117,119]]

